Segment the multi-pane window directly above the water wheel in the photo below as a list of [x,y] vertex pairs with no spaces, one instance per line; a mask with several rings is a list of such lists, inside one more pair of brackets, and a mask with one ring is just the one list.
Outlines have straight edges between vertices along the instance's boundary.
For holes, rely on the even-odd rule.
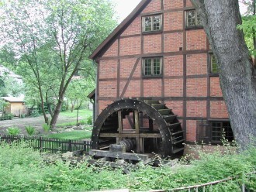
[[157,77],[162,74],[162,57],[148,57],[143,60],[144,77]]

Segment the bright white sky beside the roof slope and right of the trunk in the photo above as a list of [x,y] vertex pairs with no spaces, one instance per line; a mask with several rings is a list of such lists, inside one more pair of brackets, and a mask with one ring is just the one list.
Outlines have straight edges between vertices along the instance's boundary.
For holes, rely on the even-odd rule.
[[[140,3],[140,0],[112,0],[112,2],[116,3],[116,12],[119,16],[119,22],[122,22]],[[246,10],[244,5],[240,5],[240,9],[242,13]]]

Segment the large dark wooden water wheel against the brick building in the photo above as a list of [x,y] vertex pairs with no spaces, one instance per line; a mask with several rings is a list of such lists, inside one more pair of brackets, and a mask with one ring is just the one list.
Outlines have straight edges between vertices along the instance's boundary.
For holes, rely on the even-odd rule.
[[102,111],[92,130],[92,149],[121,144],[126,152],[157,153],[171,159],[182,156],[184,140],[177,115],[153,100],[116,101]]

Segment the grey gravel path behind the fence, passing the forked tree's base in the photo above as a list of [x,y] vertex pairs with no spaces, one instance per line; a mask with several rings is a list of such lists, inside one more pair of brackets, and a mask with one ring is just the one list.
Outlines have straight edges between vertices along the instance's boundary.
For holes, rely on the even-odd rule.
[[[82,117],[78,117],[79,120],[82,119]],[[65,122],[75,122],[76,118],[74,117],[67,117],[67,116],[59,116],[57,119],[57,124],[65,123]],[[42,125],[44,123],[43,116],[36,117],[36,118],[13,118],[12,120],[5,120],[0,121],[0,134],[5,134],[6,129],[9,127],[18,127],[22,134],[26,134],[25,126],[32,125],[36,129],[36,134],[43,133]]]

